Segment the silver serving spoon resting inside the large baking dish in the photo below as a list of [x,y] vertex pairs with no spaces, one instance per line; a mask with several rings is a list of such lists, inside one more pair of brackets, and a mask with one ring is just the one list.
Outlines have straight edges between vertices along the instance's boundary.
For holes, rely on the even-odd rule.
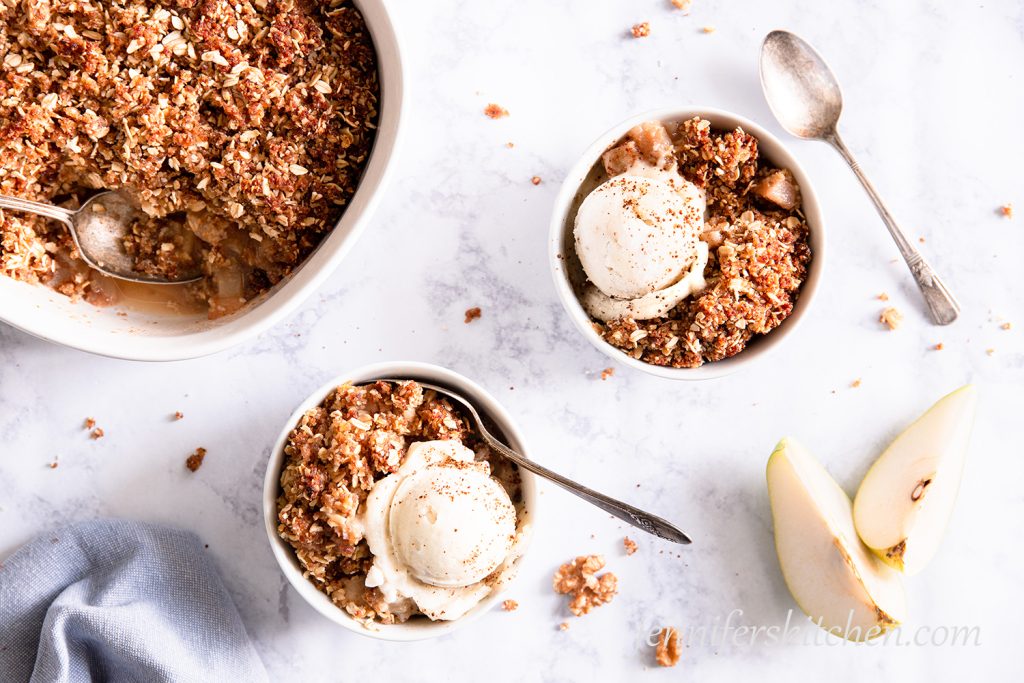
[[199,265],[191,271],[178,273],[173,280],[135,270],[134,260],[125,253],[123,245],[132,219],[142,214],[122,193],[100,193],[90,198],[78,211],[17,197],[0,196],[0,209],[28,211],[59,220],[68,226],[82,260],[112,278],[151,285],[180,285],[202,276]]

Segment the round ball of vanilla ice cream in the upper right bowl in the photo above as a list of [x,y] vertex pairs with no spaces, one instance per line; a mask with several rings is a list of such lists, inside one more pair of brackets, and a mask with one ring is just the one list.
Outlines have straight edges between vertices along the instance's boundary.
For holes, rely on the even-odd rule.
[[606,180],[580,205],[577,255],[587,278],[607,296],[645,296],[674,284],[693,263],[703,211],[702,197],[691,183],[631,169]]

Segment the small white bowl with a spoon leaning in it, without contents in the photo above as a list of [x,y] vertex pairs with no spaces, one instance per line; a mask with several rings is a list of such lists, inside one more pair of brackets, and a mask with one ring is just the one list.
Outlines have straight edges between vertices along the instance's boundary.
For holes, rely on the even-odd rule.
[[[312,583],[302,575],[302,566],[295,557],[295,552],[291,546],[278,536],[278,495],[281,492],[281,470],[285,464],[285,443],[292,429],[298,424],[299,418],[306,411],[319,405],[331,391],[346,382],[360,384],[382,377],[420,380],[430,384],[437,384],[438,386],[452,387],[453,390],[472,402],[484,419],[493,421],[498,431],[504,435],[506,443],[527,458],[529,457],[522,434],[512,421],[512,417],[489,393],[462,375],[424,362],[394,361],[366,366],[345,375],[340,375],[316,389],[288,418],[288,422],[285,423],[281,436],[278,437],[278,442],[273,446],[273,451],[270,452],[270,460],[266,467],[266,476],[263,479],[263,522],[266,526],[266,536],[270,540],[270,549],[273,551],[273,556],[276,558],[281,570],[285,572],[285,577],[292,584],[292,587],[298,591],[299,595],[321,614],[335,624],[345,627],[349,631],[380,640],[411,641],[436,638],[452,633],[456,629],[472,622],[494,607],[502,599],[502,595],[505,594],[509,585],[514,582],[515,570],[522,561],[526,550],[528,550],[528,531],[526,538],[523,540],[522,554],[512,567],[512,577],[502,582],[501,586],[496,588],[493,593],[481,600],[465,616],[453,622],[430,622],[426,618],[415,618],[404,624],[379,624],[372,627],[367,627],[352,618],[348,612],[334,604],[331,598],[316,590]],[[519,473],[522,480],[522,500],[525,510],[523,516],[526,517],[525,520],[520,521],[520,524],[525,523],[534,527],[537,523],[538,479],[535,474],[522,468],[519,468]]]

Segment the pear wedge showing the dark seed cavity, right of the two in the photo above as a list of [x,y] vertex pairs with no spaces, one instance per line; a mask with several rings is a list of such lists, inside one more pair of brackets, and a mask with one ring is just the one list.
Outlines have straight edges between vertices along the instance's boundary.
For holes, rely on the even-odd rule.
[[853,504],[857,532],[906,574],[921,571],[942,542],[977,402],[971,385],[941,398],[896,437],[860,483]]

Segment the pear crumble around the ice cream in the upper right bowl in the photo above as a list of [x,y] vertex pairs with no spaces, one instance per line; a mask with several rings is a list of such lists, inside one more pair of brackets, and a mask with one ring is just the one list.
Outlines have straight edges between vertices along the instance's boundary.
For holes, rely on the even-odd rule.
[[664,317],[593,325],[634,358],[696,368],[739,353],[788,317],[811,261],[810,228],[793,174],[762,162],[757,139],[742,129],[718,131],[698,117],[672,134],[659,123],[637,126],[605,153],[605,173],[617,175],[641,158],[658,165],[670,155],[707,195],[700,239],[711,252],[708,286]]

